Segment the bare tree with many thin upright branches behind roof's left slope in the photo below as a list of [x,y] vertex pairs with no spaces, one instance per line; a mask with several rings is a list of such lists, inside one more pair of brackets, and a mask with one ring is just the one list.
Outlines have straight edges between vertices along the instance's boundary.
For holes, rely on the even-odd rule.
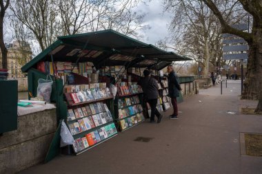
[[41,50],[45,50],[57,38],[59,23],[55,0],[14,1],[11,10],[14,16],[32,31]]

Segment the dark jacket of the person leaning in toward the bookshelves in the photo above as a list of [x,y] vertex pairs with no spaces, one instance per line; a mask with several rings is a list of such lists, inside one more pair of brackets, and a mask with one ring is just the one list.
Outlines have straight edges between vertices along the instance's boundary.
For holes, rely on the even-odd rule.
[[146,99],[150,100],[159,98],[159,85],[157,85],[156,79],[150,76],[144,77],[139,80],[139,85],[141,85]]

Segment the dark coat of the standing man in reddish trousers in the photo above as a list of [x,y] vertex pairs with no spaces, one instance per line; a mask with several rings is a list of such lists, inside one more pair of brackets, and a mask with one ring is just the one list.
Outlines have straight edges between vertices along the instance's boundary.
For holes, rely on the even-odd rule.
[[181,87],[177,74],[170,72],[170,74],[168,74],[168,96],[170,96],[170,98],[177,98],[180,90]]

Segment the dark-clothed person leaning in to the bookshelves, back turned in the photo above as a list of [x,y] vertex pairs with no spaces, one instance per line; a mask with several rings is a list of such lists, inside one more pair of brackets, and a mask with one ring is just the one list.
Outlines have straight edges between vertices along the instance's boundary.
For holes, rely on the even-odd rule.
[[143,75],[145,77],[139,80],[139,85],[141,85],[143,89],[143,98],[145,102],[148,102],[148,104],[151,107],[150,122],[155,122],[154,115],[156,115],[157,123],[159,123],[163,118],[163,116],[157,110],[157,99],[159,98],[159,85],[157,85],[157,80],[152,78],[150,74],[150,71],[148,69],[145,69],[143,71]]

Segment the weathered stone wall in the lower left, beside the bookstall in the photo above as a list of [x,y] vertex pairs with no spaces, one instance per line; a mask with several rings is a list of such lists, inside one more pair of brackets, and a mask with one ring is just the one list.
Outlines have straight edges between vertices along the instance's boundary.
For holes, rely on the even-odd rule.
[[56,109],[19,116],[17,130],[0,135],[0,173],[43,162],[56,129]]

